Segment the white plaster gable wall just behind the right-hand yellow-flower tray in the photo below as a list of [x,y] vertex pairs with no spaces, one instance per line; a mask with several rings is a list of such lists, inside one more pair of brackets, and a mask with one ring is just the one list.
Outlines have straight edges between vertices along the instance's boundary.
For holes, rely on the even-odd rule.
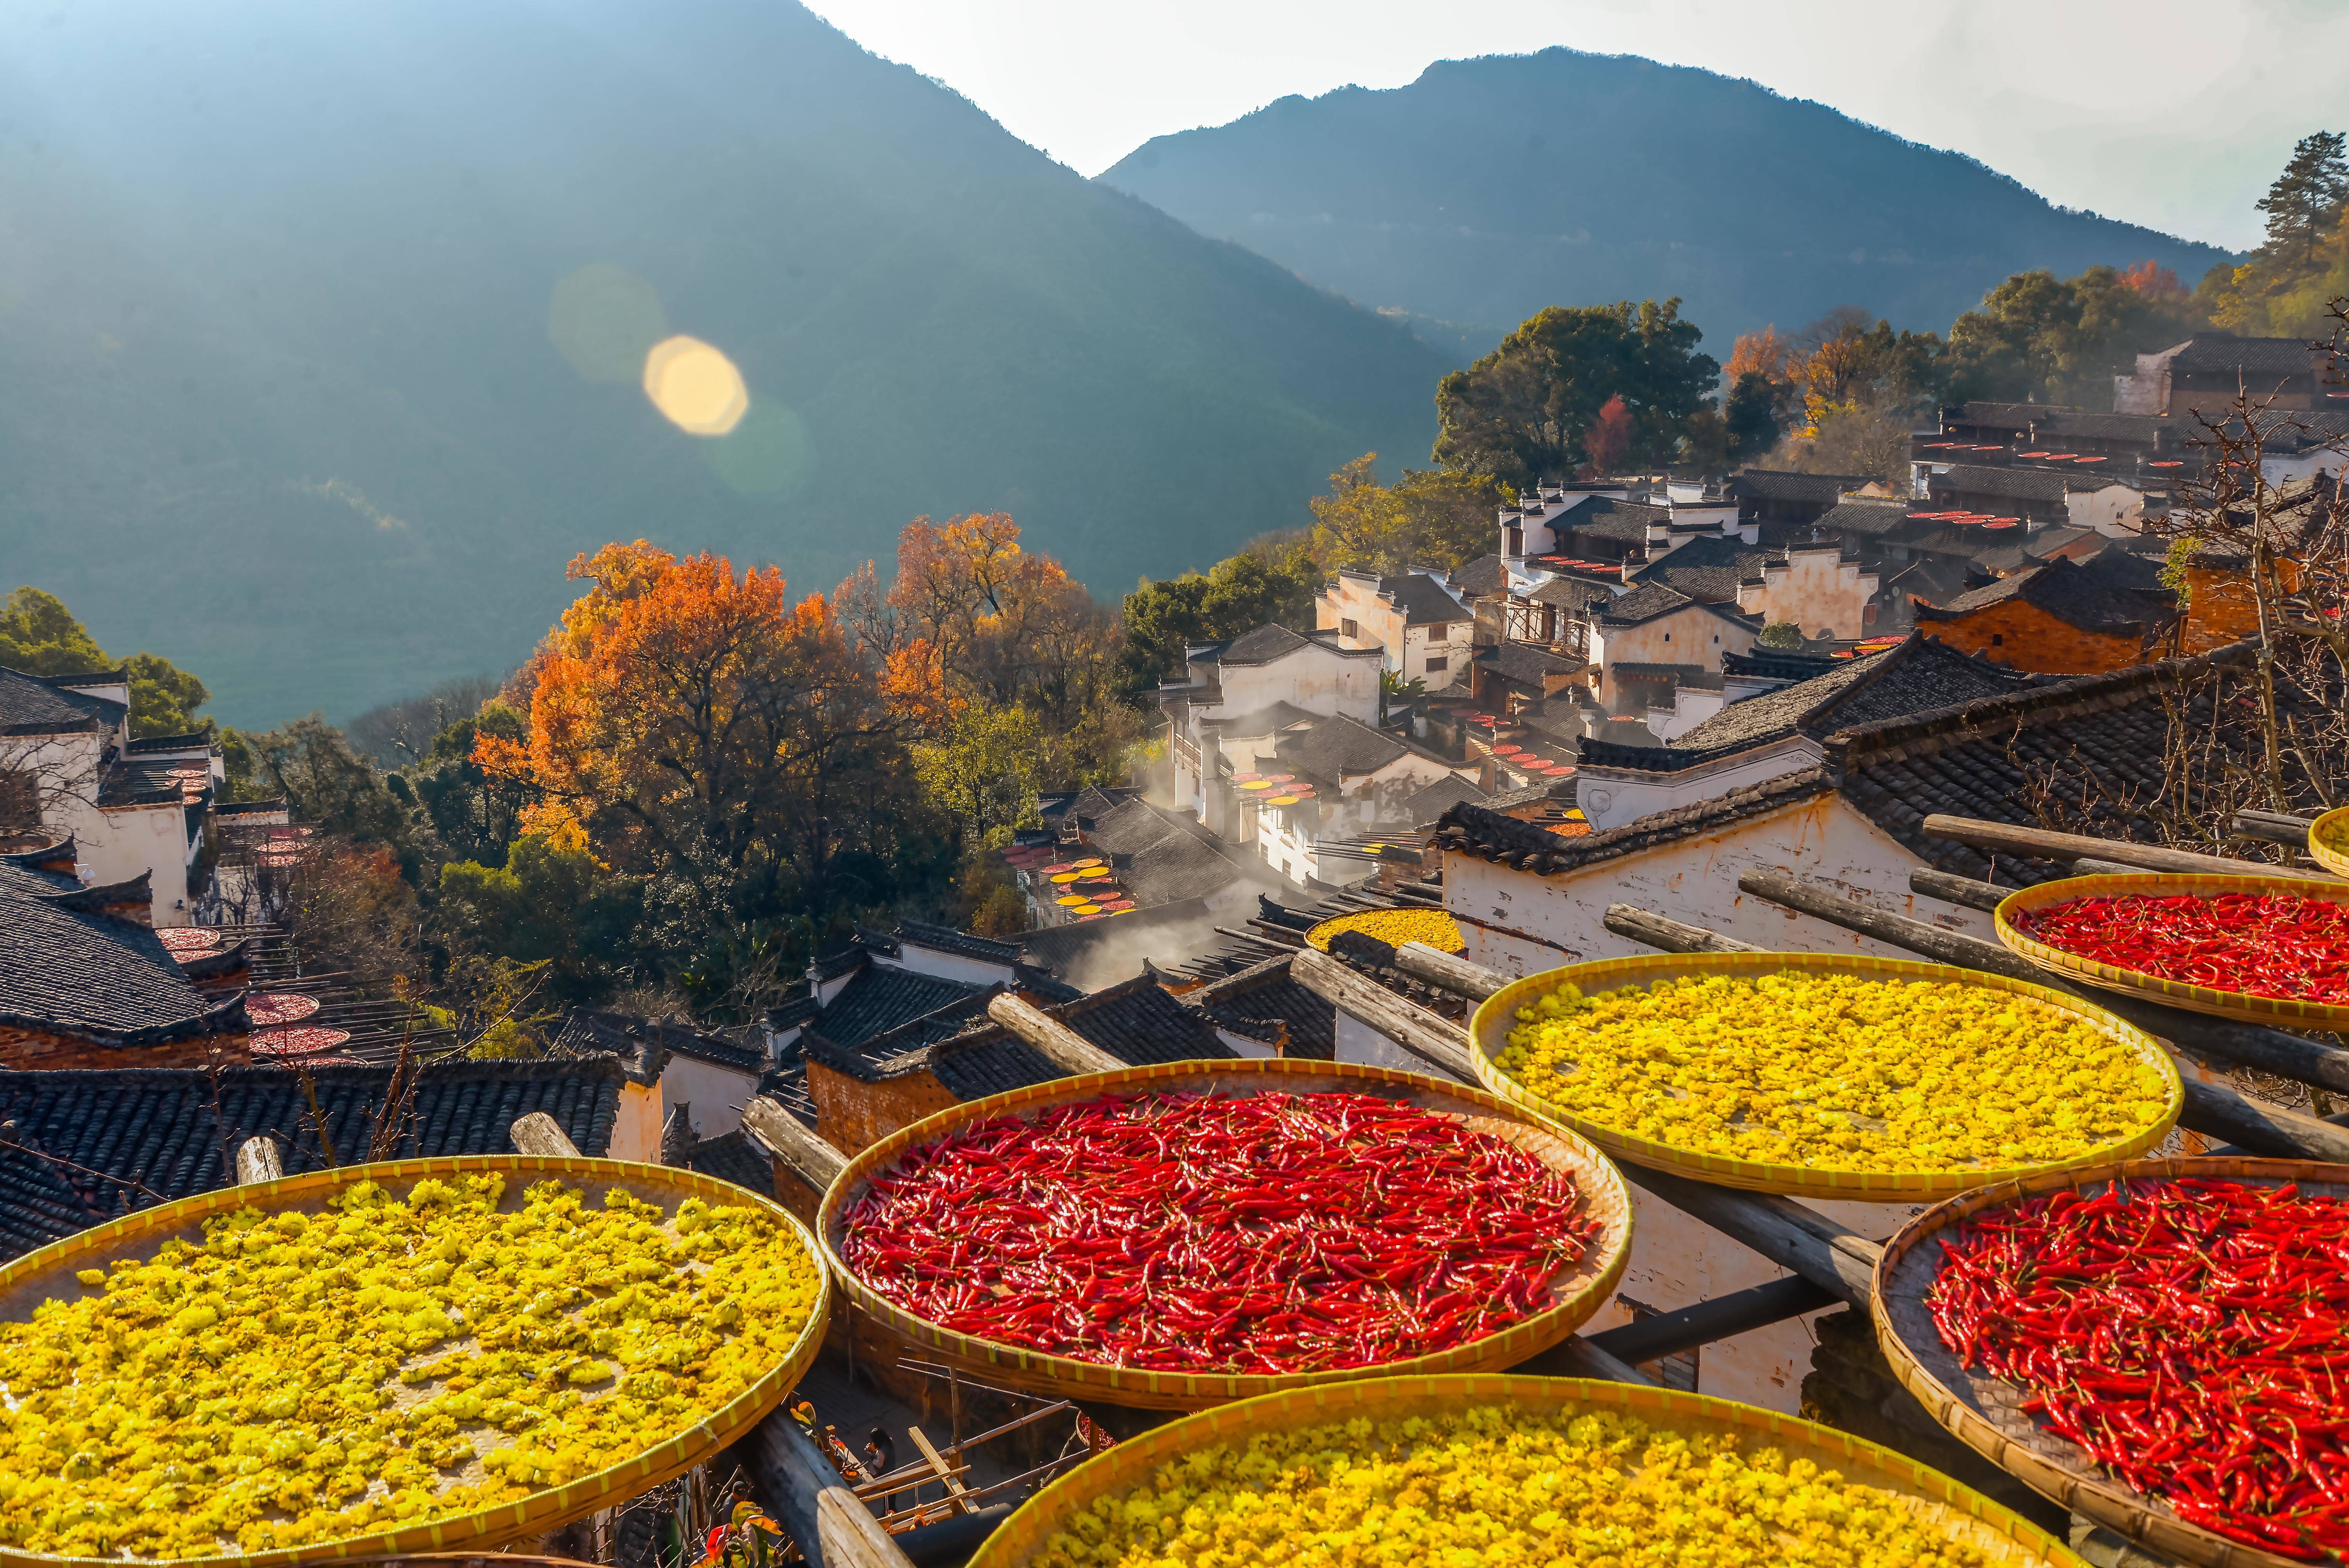
[[[1842,796],[1823,796],[1766,817],[1736,822],[1717,833],[1701,833],[1557,876],[1534,876],[1447,850],[1445,908],[1461,915],[1463,922],[1527,932],[1557,944],[1576,960],[1633,958],[1654,951],[1604,927],[1609,904],[1635,904],[1781,953],[1914,958],[1905,948],[1738,892],[1738,876],[1745,871],[1785,871],[1863,894],[1875,908],[1896,915],[1994,939],[1987,913],[1910,892],[1907,876],[1921,864]],[[1485,932],[1470,930],[1468,941],[1468,958],[1513,974],[1527,972],[1525,953],[1515,955],[1515,962],[1485,958],[1482,951],[1496,946]],[[1534,948],[1527,946],[1527,951]],[[1550,958],[1543,967],[1557,962],[1569,960]]]

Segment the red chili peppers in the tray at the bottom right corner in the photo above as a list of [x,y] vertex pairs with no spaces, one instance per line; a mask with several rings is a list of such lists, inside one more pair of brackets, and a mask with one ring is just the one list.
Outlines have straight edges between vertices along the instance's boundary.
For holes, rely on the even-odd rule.
[[1940,1340],[2178,1516],[2286,1556],[2349,1549],[2349,1204],[2133,1181],[1945,1237]]

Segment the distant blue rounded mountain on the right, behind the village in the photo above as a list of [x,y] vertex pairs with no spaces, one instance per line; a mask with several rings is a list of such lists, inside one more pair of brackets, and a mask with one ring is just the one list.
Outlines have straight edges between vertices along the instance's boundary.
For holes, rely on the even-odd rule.
[[1574,49],[1280,99],[1158,136],[1099,178],[1365,305],[1433,317],[1423,336],[1454,352],[1461,324],[1492,347],[1543,305],[1677,293],[1727,359],[1741,331],[1837,305],[1947,331],[2011,272],[2152,256],[2192,284],[2227,261],[1755,82]]

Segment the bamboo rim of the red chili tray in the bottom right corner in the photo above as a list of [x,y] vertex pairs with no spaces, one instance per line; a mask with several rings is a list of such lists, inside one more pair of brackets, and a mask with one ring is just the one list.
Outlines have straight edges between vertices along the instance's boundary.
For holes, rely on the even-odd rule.
[[1940,1235],[1959,1221],[2022,1197],[2079,1188],[2095,1195],[2114,1178],[2203,1176],[2246,1185],[2283,1185],[2300,1181],[2349,1197],[2349,1164],[2314,1160],[2126,1160],[2088,1171],[2051,1171],[2025,1181],[1952,1197],[1903,1225],[1877,1261],[1872,1312],[1877,1343],[1893,1376],[1961,1444],[2053,1502],[2095,1523],[2142,1542],[2154,1552],[2201,1568],[2283,1568],[2297,1559],[2232,1542],[2225,1535],[2192,1526],[2170,1512],[2168,1502],[2107,1474],[2086,1448],[2055,1437],[2025,1411],[2025,1394],[2013,1383],[1985,1378],[1959,1366],[1957,1354],[1940,1343],[1924,1293],[1940,1270]]

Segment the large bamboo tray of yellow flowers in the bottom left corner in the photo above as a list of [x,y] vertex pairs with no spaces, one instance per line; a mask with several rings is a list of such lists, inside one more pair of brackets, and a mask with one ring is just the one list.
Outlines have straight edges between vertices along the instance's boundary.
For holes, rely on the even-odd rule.
[[536,1537],[749,1432],[827,1305],[775,1202],[620,1160],[397,1160],[143,1209],[0,1270],[0,1563]]

